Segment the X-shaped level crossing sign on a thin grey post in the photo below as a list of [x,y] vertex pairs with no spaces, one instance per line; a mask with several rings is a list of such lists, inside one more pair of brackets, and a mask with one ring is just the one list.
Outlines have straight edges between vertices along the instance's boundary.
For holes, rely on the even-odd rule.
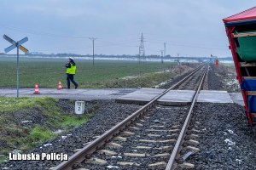
[[17,48],[17,98],[19,98],[19,87],[20,87],[20,84],[19,84],[19,67],[20,67],[20,64],[19,64],[19,48],[20,50],[22,50],[25,54],[28,52],[28,50],[26,48],[24,48],[23,46],[21,46],[22,43],[25,43],[28,41],[28,38],[25,37],[23,39],[21,39],[19,42],[15,42],[15,40],[13,40],[12,38],[6,36],[5,34],[3,35],[3,38],[10,42],[12,45],[9,46],[8,48],[5,48],[4,49],[4,52],[5,53],[8,53],[9,51],[13,50],[14,48]]

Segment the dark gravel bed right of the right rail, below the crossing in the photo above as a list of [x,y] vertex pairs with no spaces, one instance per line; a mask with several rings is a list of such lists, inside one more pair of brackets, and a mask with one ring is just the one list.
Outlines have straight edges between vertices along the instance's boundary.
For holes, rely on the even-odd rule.
[[188,161],[196,169],[256,169],[256,131],[247,127],[241,105],[201,103],[194,113],[201,151]]

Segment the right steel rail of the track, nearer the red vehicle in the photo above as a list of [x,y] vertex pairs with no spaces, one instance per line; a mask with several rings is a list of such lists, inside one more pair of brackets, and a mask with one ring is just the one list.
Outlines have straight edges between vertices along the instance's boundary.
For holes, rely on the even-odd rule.
[[181,132],[178,135],[177,142],[176,142],[176,144],[175,144],[175,146],[174,146],[174,148],[172,150],[172,155],[170,156],[170,159],[169,159],[169,161],[167,163],[166,170],[172,170],[172,169],[175,168],[174,167],[175,159],[177,157],[177,154],[179,152],[179,148],[180,148],[181,144],[183,144],[184,135],[187,132],[187,128],[189,127],[189,122],[190,122],[191,117],[192,117],[192,111],[193,111],[193,108],[194,108],[194,105],[195,105],[195,100],[197,99],[197,96],[198,96],[198,94],[199,94],[199,92],[201,90],[201,86],[202,86],[202,83],[204,82],[204,79],[206,77],[207,70],[208,70],[208,68],[204,71],[204,74],[203,74],[203,76],[201,78],[200,85],[199,85],[199,87],[196,90],[196,93],[194,95],[192,104],[191,104],[190,109],[189,109],[188,116],[186,117],[186,120],[185,120],[185,122],[183,124],[183,128],[182,128]]

